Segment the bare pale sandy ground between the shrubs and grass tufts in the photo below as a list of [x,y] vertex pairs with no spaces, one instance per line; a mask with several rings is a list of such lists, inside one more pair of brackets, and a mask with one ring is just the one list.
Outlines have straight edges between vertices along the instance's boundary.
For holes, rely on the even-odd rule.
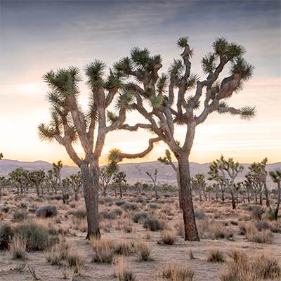
[[[63,216],[63,213],[65,213],[67,209],[70,209],[70,207],[61,207],[62,205],[60,202],[52,203],[58,204],[58,210],[60,211],[59,216],[63,222],[62,226],[71,227],[71,218],[65,218]],[[211,209],[214,206],[209,202],[202,204],[197,202],[196,205],[197,207],[201,207],[201,209]],[[169,216],[165,215],[166,218],[168,218],[167,223],[169,224],[172,224],[176,218],[181,218],[181,214],[178,210],[176,210],[176,204],[174,206],[175,209],[172,209],[171,214],[169,214]],[[65,210],[61,210],[60,207]],[[116,206],[106,207],[105,205],[102,205],[100,209],[106,210],[113,207]],[[165,205],[159,207],[157,211],[159,216],[161,215],[164,217],[164,213],[162,212],[164,207]],[[225,207],[221,204],[216,204],[216,209],[207,215],[214,218],[219,214],[218,220],[220,221],[238,221],[241,213],[242,207],[238,207],[236,211],[232,211],[230,210],[229,205]],[[2,221],[8,221],[8,217],[4,218],[4,216],[2,216],[1,219]],[[275,257],[277,260],[281,261],[281,233],[273,233],[272,244],[258,244],[255,242],[247,242],[244,236],[238,235],[238,226],[230,224],[228,228],[231,228],[234,232],[234,236],[231,240],[202,239],[200,242],[185,242],[183,238],[178,237],[176,244],[163,245],[157,244],[157,240],[159,240],[160,235],[159,232],[149,232],[150,235],[148,235],[148,231],[143,228],[142,224],[133,223],[133,233],[124,233],[124,231],[116,229],[116,223],[117,222],[115,220],[107,220],[107,226],[110,226],[110,233],[106,233],[102,230],[102,236],[110,237],[114,241],[120,239],[132,242],[143,240],[148,242],[152,249],[152,261],[140,261],[137,254],[132,254],[124,258],[129,263],[129,267],[136,275],[136,280],[138,281],[158,280],[157,276],[161,272],[162,268],[171,263],[181,263],[183,265],[190,266],[190,268],[195,270],[195,281],[220,280],[221,272],[227,266],[228,254],[233,249],[245,251],[250,257],[268,254],[269,256]],[[86,257],[86,266],[84,268],[83,275],[76,276],[73,280],[118,280],[118,278],[114,275],[117,268],[115,264],[91,262],[93,249],[89,242],[85,240],[85,233],[81,233],[79,230],[75,230],[73,232],[70,231],[70,233],[67,233],[65,238],[74,249],[77,249],[77,251],[83,253]],[[214,248],[220,249],[223,252],[226,257],[225,263],[211,263],[207,261],[207,252],[209,249]],[[196,259],[190,259],[190,249]],[[11,259],[11,253],[9,251],[0,251],[0,280],[33,280],[31,279],[31,274],[27,269],[28,266],[35,268],[39,280],[64,280],[63,271],[67,270],[67,263],[65,261],[63,261],[62,266],[51,266],[46,262],[44,252],[42,251],[28,253],[27,256],[27,261],[13,260]],[[20,263],[26,263],[26,267],[22,270],[22,272],[15,269]]]

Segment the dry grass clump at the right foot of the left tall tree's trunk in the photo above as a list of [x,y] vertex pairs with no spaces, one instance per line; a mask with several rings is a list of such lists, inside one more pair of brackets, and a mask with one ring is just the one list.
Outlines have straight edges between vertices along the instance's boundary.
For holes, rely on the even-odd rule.
[[111,239],[103,238],[103,239],[95,239],[91,238],[91,245],[95,254],[93,254],[93,262],[99,263],[112,263],[114,247]]

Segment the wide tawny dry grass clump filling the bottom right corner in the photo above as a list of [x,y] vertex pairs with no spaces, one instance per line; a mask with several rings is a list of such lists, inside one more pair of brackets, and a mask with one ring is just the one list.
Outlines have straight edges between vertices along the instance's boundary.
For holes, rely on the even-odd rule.
[[256,281],[281,277],[280,265],[269,256],[262,255],[249,260],[246,254],[233,251],[230,257],[233,260],[221,275],[221,281]]

